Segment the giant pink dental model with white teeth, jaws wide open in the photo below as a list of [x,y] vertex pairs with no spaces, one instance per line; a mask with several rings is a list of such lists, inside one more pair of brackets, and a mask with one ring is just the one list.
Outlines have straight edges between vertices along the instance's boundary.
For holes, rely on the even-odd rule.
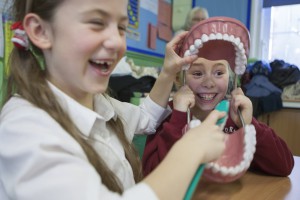
[[[227,60],[237,75],[245,72],[249,54],[249,32],[238,20],[211,17],[195,25],[183,40],[180,56],[198,55],[209,60]],[[184,66],[187,70],[190,66]],[[249,168],[256,145],[252,124],[226,134],[226,148],[216,161],[207,163],[203,176],[208,181],[226,183],[240,178]],[[193,122],[192,126],[197,123]],[[191,127],[191,126],[190,126]]]

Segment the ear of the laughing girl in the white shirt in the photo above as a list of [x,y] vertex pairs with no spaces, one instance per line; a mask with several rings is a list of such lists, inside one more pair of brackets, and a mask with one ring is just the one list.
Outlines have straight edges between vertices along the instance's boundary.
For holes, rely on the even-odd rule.
[[40,49],[51,47],[50,26],[38,15],[29,13],[23,20],[23,27],[29,40]]

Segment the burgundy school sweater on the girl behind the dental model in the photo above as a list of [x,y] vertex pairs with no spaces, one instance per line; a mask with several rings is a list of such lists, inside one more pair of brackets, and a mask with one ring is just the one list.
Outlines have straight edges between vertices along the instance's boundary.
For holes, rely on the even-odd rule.
[[[170,106],[172,107],[170,102]],[[142,158],[146,176],[166,156],[173,144],[182,137],[186,125],[186,112],[173,110],[153,135],[148,135]],[[256,129],[256,151],[249,170],[260,171],[273,176],[288,176],[294,167],[293,155],[286,143],[264,123],[252,119]],[[238,127],[228,117],[224,132],[232,133]]]

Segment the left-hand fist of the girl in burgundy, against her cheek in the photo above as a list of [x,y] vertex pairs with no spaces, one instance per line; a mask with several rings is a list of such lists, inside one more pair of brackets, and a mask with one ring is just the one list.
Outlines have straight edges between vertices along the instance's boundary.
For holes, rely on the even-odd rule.
[[187,112],[188,108],[195,105],[195,95],[189,86],[182,86],[173,97],[173,107],[175,110]]

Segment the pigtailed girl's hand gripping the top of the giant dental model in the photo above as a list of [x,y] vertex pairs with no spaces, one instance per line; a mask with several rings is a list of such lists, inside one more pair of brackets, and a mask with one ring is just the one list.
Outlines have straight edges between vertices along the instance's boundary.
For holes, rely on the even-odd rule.
[[176,74],[182,70],[182,67],[194,62],[198,56],[192,55],[187,57],[180,57],[176,50],[180,48],[184,37],[188,32],[185,31],[176,35],[166,46],[165,60],[162,68],[162,73],[168,76],[176,77]]

